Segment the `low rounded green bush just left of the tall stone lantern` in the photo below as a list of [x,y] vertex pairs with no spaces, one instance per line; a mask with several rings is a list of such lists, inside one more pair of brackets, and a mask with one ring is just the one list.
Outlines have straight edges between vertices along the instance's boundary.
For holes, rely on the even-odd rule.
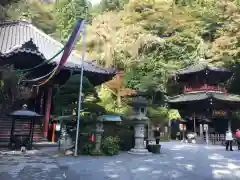
[[105,155],[117,155],[120,150],[120,139],[118,137],[105,137],[102,141],[102,151]]

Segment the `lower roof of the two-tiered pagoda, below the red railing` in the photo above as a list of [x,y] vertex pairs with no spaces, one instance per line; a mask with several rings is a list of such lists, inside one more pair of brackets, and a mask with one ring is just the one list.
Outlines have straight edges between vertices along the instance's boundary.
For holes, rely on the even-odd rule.
[[187,103],[191,101],[201,101],[206,99],[216,99],[220,101],[229,101],[229,102],[239,102],[240,103],[240,96],[233,95],[233,94],[226,94],[222,92],[191,92],[191,93],[185,93],[177,96],[170,97],[168,99],[168,102],[170,104],[175,103]]

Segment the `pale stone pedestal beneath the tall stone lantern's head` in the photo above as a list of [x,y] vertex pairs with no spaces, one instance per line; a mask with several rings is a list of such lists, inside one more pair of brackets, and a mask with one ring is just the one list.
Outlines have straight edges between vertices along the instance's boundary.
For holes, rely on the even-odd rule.
[[147,155],[151,154],[148,152],[144,145],[144,128],[145,128],[146,120],[143,119],[135,119],[134,120],[134,131],[135,131],[135,145],[130,151],[129,154],[137,154],[137,155]]

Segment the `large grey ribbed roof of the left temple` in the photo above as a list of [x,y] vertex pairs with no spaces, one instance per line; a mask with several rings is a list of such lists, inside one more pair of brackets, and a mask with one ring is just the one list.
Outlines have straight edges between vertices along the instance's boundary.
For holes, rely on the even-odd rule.
[[[45,60],[50,59],[63,48],[61,43],[26,21],[6,21],[0,23],[0,55],[7,56],[13,51],[23,51],[21,49],[22,45],[31,39],[39,52],[30,53],[42,55]],[[61,55],[62,53],[54,61],[59,62]],[[76,70],[81,68],[81,55],[73,52],[65,67],[76,68]],[[84,62],[84,70],[99,74],[115,74],[113,70],[102,68],[91,61]]]

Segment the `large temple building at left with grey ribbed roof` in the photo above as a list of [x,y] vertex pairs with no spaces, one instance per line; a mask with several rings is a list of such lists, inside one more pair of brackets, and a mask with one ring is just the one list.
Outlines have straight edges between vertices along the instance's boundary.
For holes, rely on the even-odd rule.
[[[34,140],[47,137],[49,119],[52,106],[54,106],[53,87],[63,85],[72,74],[81,72],[81,56],[72,52],[64,67],[47,84],[43,86],[32,86],[37,83],[38,77],[45,76],[57,65],[62,53],[51,59],[64,46],[52,37],[37,29],[26,21],[0,22],[0,66],[13,65],[17,70],[27,71],[27,86],[31,89],[30,100],[25,101],[29,109],[33,109],[44,115],[42,124],[36,125]],[[46,63],[43,63],[46,62]],[[41,66],[38,66],[42,64]],[[94,86],[100,85],[115,76],[115,71],[98,66],[95,62],[84,62],[84,76]],[[21,104],[22,106],[22,104]],[[19,107],[20,108],[20,107]],[[0,142],[8,142],[10,137],[11,121],[4,114],[0,116]],[[22,125],[16,125],[21,126]],[[17,127],[16,127],[17,128]],[[24,128],[22,128],[24,130]]]

